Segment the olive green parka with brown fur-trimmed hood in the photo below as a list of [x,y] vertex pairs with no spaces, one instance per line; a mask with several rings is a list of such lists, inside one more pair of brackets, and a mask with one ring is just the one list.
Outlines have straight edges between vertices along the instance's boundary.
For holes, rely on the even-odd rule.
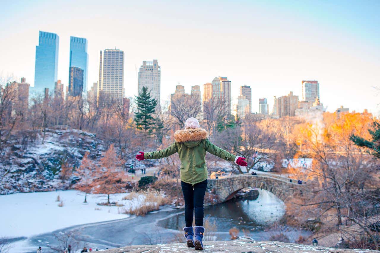
[[145,152],[145,159],[160,159],[178,152],[181,160],[181,180],[192,185],[207,179],[206,151],[226,161],[235,161],[236,155],[212,144],[203,128],[187,128],[174,133],[174,143],[166,149]]

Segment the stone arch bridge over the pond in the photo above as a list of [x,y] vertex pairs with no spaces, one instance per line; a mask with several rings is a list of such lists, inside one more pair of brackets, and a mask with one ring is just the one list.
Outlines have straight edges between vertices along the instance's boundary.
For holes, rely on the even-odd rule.
[[243,188],[253,187],[270,191],[282,201],[300,191],[305,191],[306,185],[290,182],[290,178],[270,174],[241,174],[219,179],[208,179],[207,188],[218,196],[219,202],[225,202]]

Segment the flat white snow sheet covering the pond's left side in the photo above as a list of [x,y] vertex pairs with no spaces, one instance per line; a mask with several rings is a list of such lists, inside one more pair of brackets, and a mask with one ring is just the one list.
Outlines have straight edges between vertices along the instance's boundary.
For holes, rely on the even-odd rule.
[[[144,202],[141,198],[122,200],[127,194],[110,197],[122,207],[97,206],[107,201],[104,194],[87,194],[85,204],[84,193],[75,190],[0,195],[0,237],[29,237],[75,225],[127,218],[130,215],[123,214],[124,209],[135,209]],[[57,196],[63,207],[58,206]]]

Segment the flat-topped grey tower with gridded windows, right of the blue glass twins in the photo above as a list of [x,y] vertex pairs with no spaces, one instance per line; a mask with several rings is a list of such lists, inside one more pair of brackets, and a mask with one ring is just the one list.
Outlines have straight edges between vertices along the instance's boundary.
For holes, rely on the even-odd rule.
[[124,52],[119,49],[100,51],[98,103],[123,102]]

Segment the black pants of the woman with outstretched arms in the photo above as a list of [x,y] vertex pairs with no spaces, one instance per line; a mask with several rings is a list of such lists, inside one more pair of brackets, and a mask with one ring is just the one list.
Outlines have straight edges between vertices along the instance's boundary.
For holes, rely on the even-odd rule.
[[187,227],[193,226],[193,210],[195,209],[195,226],[203,226],[203,201],[206,193],[207,179],[191,185],[181,181],[182,192],[185,199],[185,223]]

